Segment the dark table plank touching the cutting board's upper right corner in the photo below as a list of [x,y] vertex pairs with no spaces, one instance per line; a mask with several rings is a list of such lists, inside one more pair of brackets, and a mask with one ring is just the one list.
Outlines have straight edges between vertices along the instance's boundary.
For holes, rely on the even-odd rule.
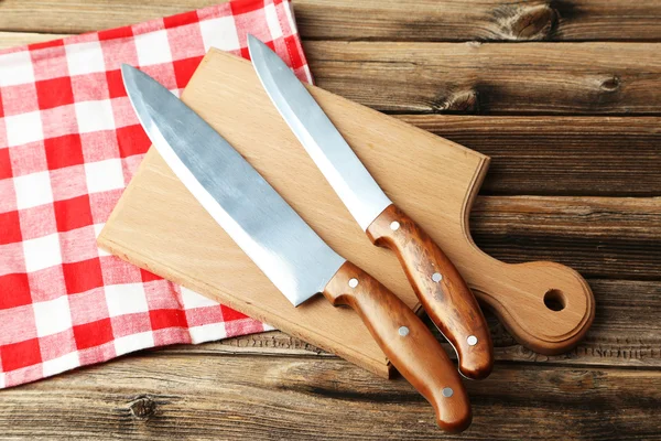
[[489,155],[481,194],[661,196],[659,117],[398,118]]

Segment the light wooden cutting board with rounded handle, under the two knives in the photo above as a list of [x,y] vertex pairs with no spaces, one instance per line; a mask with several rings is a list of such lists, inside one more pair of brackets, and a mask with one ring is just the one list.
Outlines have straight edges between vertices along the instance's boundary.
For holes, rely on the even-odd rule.
[[[468,213],[489,158],[319,88],[311,92],[388,196],[437,241],[481,303],[521,344],[554,354],[578,342],[594,318],[594,298],[577,272],[552,262],[507,265],[470,239]],[[420,309],[394,255],[371,245],[354,222],[271,105],[250,63],[212,50],[182,99],[336,251]],[[333,308],[321,295],[293,308],[154,149],[98,243],[124,260],[381,376],[390,374],[358,315]],[[563,309],[551,310],[545,301]]]

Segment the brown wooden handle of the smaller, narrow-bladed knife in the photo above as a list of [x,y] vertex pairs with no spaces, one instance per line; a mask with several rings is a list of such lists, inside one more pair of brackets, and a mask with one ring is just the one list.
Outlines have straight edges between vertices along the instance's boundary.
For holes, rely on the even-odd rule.
[[489,327],[447,256],[394,204],[371,223],[367,235],[373,244],[394,251],[427,315],[457,352],[462,375],[487,377],[494,367]]

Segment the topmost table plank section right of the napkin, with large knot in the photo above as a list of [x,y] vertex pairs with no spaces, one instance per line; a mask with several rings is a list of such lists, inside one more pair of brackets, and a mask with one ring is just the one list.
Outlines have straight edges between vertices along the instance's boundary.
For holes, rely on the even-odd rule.
[[[299,7],[300,4],[300,7]],[[661,6],[563,0],[310,0],[296,2],[306,39],[391,41],[658,41]]]

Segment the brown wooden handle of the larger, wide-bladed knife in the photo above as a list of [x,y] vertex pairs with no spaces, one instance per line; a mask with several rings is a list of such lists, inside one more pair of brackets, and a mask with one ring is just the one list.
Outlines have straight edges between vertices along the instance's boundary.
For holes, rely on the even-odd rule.
[[470,424],[462,378],[432,332],[404,302],[348,261],[330,279],[324,297],[360,315],[392,365],[434,407],[442,429],[460,432]]

